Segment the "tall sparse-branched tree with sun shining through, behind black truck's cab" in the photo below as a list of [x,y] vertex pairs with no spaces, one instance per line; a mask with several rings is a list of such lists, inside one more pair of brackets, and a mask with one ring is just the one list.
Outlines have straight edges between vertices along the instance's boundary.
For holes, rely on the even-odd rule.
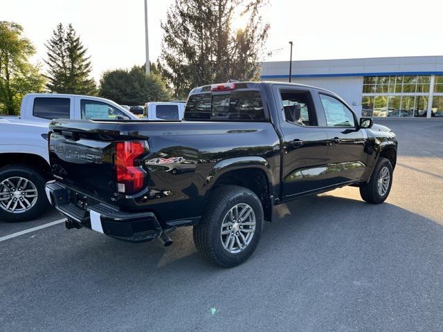
[[[266,0],[175,0],[162,22],[161,69],[176,95],[195,86],[229,79],[257,80],[269,24],[260,10]],[[234,31],[236,17],[246,25]]]

